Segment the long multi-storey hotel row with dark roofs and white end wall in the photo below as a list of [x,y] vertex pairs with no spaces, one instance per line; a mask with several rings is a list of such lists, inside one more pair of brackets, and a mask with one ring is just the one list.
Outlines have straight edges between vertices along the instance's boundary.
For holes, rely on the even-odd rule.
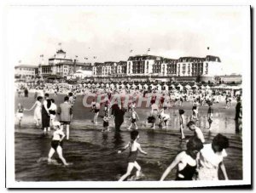
[[131,56],[127,61],[95,63],[92,75],[98,80],[105,77],[133,77],[135,79],[168,78],[190,80],[196,77],[214,77],[222,72],[218,56],[205,58],[181,57],[167,59],[155,55]]

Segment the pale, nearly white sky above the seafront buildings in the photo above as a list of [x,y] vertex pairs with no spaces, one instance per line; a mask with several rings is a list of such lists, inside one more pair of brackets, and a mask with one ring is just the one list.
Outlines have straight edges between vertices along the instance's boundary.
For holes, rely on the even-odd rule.
[[10,65],[38,65],[41,54],[47,64],[59,43],[80,62],[210,54],[220,58],[224,74],[250,65],[244,60],[250,52],[245,6],[10,6],[5,17]]

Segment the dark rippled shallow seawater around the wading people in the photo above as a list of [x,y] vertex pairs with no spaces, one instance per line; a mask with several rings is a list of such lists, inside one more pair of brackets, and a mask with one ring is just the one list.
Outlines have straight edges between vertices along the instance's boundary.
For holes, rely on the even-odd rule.
[[[55,97],[58,105],[63,96]],[[21,102],[25,108],[32,106],[33,99],[16,98],[16,103]],[[17,181],[73,181],[73,180],[117,180],[119,174],[125,173],[127,167],[126,158],[128,151],[117,154],[117,150],[123,147],[130,139],[126,128],[129,126],[129,114],[125,114],[123,132],[102,133],[102,112],[98,118],[98,124],[91,122],[93,114],[90,109],[81,105],[79,97],[74,106],[73,122],[69,140],[65,140],[63,155],[67,162],[73,163],[68,167],[48,164],[46,157],[49,153],[51,134],[42,135],[41,128],[33,124],[32,113],[25,112],[22,125],[15,126],[15,179]],[[235,132],[234,107],[233,110],[224,110],[224,106],[216,107],[212,123],[212,132],[207,127],[207,107],[200,108],[200,120],[197,123],[202,129],[207,143],[218,133],[224,133],[230,139],[228,156],[224,158],[224,164],[230,179],[242,179],[242,141],[241,134]],[[179,139],[177,109],[185,109],[185,119],[188,122],[191,108],[189,104],[183,107],[173,107],[166,111],[171,116],[167,130],[149,129],[146,122],[149,109],[137,109],[140,116],[137,122],[140,130],[139,143],[148,156],[139,154],[137,162],[142,167],[145,177],[143,180],[159,180],[166,167],[181,150],[185,150],[185,141]],[[110,122],[113,131],[113,121]],[[185,128],[186,136],[191,133]],[[54,156],[57,162],[61,161]],[[176,171],[172,171],[167,179],[175,179]],[[223,176],[219,175],[220,179]]]

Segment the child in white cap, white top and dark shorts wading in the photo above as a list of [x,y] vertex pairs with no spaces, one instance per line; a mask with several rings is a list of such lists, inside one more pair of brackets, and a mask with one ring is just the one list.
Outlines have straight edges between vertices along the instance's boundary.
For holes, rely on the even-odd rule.
[[55,132],[53,133],[53,138],[51,141],[51,148],[49,150],[48,155],[48,162],[51,162],[51,157],[54,155],[55,151],[57,151],[58,156],[60,157],[61,161],[65,166],[67,166],[67,162],[65,158],[62,156],[62,140],[65,138],[65,134],[60,129],[61,123],[60,122],[53,122],[53,126]]

